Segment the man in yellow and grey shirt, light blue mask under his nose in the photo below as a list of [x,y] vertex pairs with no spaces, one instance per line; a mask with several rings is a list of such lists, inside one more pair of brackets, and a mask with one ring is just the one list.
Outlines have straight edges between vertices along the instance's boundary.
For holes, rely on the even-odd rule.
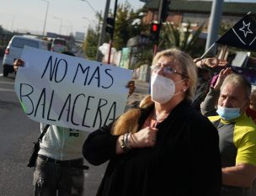
[[256,126],[245,114],[250,93],[251,84],[227,68],[201,103],[202,114],[216,126],[220,137],[221,196],[248,195],[256,177]]

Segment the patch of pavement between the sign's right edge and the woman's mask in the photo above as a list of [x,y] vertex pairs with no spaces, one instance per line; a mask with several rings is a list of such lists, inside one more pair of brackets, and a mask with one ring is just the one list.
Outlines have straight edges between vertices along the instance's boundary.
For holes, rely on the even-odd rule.
[[135,106],[137,103],[140,103],[142,98],[145,98],[148,94],[148,82],[143,82],[140,80],[135,80],[135,92],[128,98],[126,109],[130,109]]

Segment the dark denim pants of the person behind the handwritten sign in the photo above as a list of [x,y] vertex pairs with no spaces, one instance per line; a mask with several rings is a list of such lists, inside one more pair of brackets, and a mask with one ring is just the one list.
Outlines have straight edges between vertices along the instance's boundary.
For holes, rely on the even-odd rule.
[[37,157],[33,182],[35,196],[82,196],[83,181],[83,169],[61,167]]

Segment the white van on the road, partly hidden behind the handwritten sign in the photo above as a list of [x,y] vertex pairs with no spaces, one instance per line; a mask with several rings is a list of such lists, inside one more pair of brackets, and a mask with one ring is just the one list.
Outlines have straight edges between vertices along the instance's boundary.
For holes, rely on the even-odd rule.
[[14,35],[10,40],[3,56],[3,76],[8,77],[8,73],[13,72],[13,61],[20,59],[24,45],[47,50],[47,42],[35,38],[21,35]]

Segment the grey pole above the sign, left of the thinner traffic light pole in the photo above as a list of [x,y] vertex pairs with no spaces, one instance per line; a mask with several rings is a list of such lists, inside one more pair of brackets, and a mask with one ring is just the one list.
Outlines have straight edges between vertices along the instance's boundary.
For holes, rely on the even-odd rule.
[[109,4],[110,4],[110,0],[106,1],[106,6],[105,6],[105,10],[104,10],[104,19],[103,19],[103,24],[101,27],[101,33],[99,36],[99,42],[98,42],[98,47],[97,47],[97,55],[96,55],[96,61],[100,61],[102,55],[100,54],[99,51],[99,46],[104,44],[105,41],[105,29],[106,29],[106,20],[108,18],[109,15]]

